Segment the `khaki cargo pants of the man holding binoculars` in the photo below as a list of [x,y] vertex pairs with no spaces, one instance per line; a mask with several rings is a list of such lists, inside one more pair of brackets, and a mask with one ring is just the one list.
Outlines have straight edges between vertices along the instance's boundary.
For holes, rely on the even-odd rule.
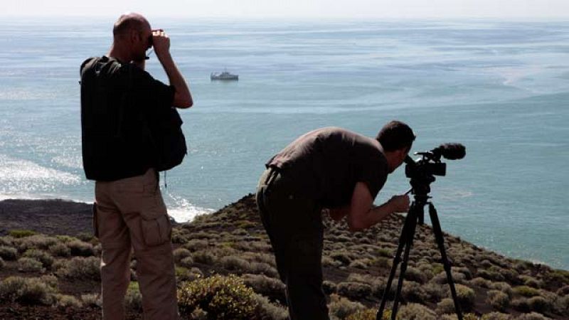
[[171,223],[157,183],[154,169],[142,176],[95,183],[93,223],[102,245],[104,320],[124,319],[131,248],[137,257],[144,319],[179,319]]

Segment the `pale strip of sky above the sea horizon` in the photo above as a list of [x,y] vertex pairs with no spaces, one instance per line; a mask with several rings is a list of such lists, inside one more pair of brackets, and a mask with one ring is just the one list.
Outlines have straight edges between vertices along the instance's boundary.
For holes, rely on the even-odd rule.
[[0,16],[568,18],[569,0],[0,0]]

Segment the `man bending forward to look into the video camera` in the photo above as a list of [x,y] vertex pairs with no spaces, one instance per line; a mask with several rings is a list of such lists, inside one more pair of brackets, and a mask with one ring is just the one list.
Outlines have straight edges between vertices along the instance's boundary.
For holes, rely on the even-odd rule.
[[372,205],[414,140],[413,130],[398,121],[385,124],[376,139],[329,127],[304,134],[267,162],[257,206],[286,284],[290,319],[329,319],[322,291],[322,209],[334,220],[346,217],[352,231],[407,211],[405,195]]

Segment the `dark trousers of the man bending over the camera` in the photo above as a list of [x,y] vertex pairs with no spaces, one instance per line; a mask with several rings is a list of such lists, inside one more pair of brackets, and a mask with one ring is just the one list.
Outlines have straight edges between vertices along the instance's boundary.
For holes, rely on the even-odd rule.
[[287,287],[292,320],[328,320],[322,290],[321,206],[295,193],[286,174],[267,169],[257,188],[257,206]]

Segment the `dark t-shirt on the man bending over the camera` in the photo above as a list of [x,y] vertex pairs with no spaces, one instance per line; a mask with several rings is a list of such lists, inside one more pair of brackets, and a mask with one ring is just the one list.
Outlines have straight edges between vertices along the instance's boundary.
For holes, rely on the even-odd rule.
[[379,142],[335,127],[302,135],[266,166],[279,168],[295,190],[327,208],[349,205],[357,182],[376,198],[389,172]]

